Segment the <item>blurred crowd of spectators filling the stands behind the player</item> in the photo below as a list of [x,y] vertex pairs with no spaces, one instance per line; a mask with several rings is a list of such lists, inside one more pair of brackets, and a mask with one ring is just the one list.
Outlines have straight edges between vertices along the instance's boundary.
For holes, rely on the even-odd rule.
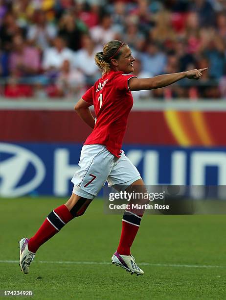
[[226,97],[225,0],[0,0],[0,96],[77,99],[112,39],[131,47],[141,78],[209,67],[134,98]]

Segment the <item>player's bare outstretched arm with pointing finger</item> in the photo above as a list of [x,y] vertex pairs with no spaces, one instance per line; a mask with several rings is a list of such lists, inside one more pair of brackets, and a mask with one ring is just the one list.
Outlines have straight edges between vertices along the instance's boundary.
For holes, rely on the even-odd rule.
[[199,79],[203,75],[204,69],[195,69],[180,73],[158,75],[153,78],[136,78],[132,77],[129,80],[129,88],[131,91],[152,90],[170,85],[182,78]]

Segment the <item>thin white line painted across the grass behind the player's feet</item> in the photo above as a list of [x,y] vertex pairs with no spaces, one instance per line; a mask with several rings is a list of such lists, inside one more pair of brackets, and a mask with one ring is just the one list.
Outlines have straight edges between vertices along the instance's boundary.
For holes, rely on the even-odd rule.
[[[110,262],[96,262],[96,261],[34,261],[41,264],[71,264],[71,265],[111,265]],[[18,263],[18,260],[0,260],[0,263],[14,264]],[[181,265],[181,264],[152,264],[152,263],[139,263],[141,266],[152,266],[152,267],[175,267],[175,268],[222,268],[226,266],[212,266],[212,265]]]

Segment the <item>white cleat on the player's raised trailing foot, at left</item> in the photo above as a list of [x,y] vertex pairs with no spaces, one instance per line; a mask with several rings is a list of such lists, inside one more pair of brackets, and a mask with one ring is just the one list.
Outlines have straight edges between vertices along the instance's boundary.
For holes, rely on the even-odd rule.
[[31,262],[34,260],[35,253],[28,250],[28,241],[29,239],[23,238],[19,242],[19,248],[20,248],[20,263],[21,271],[24,274],[28,274],[29,267]]

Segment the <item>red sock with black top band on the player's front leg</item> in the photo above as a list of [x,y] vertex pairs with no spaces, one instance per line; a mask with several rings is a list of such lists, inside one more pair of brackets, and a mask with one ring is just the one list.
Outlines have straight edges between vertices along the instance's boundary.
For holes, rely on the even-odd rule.
[[130,248],[136,237],[136,233],[139,229],[141,216],[125,211],[122,219],[122,232],[119,241],[117,252],[121,255],[130,255]]

